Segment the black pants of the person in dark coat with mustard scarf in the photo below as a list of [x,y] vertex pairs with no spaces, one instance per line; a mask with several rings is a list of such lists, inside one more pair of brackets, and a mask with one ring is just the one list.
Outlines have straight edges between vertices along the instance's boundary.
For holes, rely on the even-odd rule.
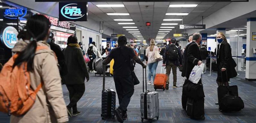
[[73,112],[77,112],[77,102],[81,99],[85,91],[85,85],[75,84],[75,85],[66,85],[69,91],[69,108],[73,109]]

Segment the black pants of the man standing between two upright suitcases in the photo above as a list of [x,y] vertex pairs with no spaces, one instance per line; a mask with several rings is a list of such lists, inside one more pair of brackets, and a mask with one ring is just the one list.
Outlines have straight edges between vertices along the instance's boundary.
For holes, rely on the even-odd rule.
[[126,111],[134,93],[134,83],[131,75],[113,76],[119,100],[119,109]]

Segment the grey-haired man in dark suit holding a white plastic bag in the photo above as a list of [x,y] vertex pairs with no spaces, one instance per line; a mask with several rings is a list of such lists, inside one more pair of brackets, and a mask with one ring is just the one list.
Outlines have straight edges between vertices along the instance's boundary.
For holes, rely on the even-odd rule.
[[200,33],[193,34],[193,41],[189,43],[185,48],[184,53],[184,66],[181,76],[186,77],[188,80],[191,71],[195,65],[201,65],[202,58],[198,45],[201,44],[202,36]]

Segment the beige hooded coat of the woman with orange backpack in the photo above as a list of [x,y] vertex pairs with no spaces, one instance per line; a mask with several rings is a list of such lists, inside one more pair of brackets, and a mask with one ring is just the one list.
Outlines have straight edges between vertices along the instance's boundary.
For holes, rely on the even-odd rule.
[[[38,46],[48,46],[43,41]],[[27,46],[19,41],[14,53],[22,51]],[[37,93],[33,107],[21,117],[11,116],[10,123],[65,123],[68,122],[66,104],[63,99],[61,77],[57,61],[52,50],[36,51],[34,57],[34,71],[30,73],[33,89],[43,81],[43,87]]]

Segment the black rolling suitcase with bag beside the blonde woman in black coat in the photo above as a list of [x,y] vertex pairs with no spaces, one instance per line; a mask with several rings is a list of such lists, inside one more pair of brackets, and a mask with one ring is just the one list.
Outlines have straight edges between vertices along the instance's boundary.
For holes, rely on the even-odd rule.
[[[221,73],[222,75],[222,73]],[[226,72],[227,75],[227,72]],[[227,79],[228,80],[228,79]],[[238,96],[238,88],[236,85],[218,87],[219,111],[240,111],[244,108],[244,103],[241,97]]]

